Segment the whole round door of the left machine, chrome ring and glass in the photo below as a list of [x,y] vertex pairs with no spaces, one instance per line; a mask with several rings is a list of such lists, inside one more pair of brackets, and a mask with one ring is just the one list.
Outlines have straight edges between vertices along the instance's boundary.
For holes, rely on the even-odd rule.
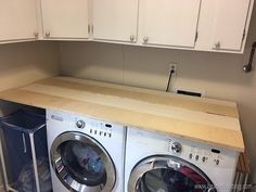
[[106,150],[81,132],[60,135],[51,146],[51,163],[61,182],[76,192],[111,192],[116,172]]

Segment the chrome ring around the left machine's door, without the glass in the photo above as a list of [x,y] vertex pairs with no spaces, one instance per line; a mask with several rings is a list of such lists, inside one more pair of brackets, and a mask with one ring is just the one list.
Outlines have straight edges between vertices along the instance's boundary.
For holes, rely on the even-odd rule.
[[[66,170],[65,166],[62,163],[62,156],[59,152],[59,146],[66,142],[66,141],[80,141],[82,143],[88,143],[90,145],[95,145],[97,148],[93,149],[99,156],[101,157],[102,162],[105,166],[106,171],[106,183],[105,185],[100,184],[97,187],[89,187],[84,183],[77,182]],[[106,152],[106,150],[95,139],[91,138],[88,135],[77,131],[67,131],[63,132],[62,135],[57,136],[53,141],[50,150],[50,158],[53,170],[55,175],[60,179],[60,181],[69,190],[77,191],[77,192],[111,192],[116,182],[116,170],[114,163]],[[103,188],[103,190],[102,190]]]

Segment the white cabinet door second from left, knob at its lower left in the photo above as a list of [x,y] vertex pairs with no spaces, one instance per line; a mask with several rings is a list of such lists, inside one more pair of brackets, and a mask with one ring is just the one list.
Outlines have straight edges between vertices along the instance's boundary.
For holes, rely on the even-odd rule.
[[46,38],[88,38],[88,0],[41,0]]

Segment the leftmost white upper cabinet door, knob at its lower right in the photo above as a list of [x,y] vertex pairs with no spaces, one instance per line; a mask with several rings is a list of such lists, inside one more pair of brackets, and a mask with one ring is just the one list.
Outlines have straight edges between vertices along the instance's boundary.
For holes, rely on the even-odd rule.
[[38,36],[35,0],[1,0],[0,41],[34,39]]

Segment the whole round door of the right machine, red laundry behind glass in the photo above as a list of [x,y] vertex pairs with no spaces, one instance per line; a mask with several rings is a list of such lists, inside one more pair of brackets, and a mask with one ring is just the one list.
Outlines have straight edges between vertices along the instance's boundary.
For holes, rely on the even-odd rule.
[[131,171],[128,192],[215,192],[194,165],[174,156],[151,156]]

